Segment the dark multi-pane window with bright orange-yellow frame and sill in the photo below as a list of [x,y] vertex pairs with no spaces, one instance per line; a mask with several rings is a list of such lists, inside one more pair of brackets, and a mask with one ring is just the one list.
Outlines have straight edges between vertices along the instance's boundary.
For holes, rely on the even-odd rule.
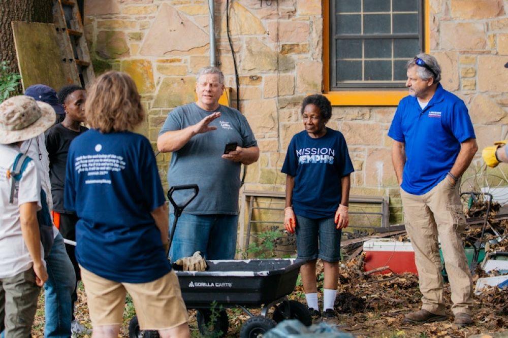
[[[346,98],[332,104],[397,105],[407,95],[407,60],[428,45],[428,0],[325,0],[323,5],[325,92]],[[359,98],[362,102],[355,103]]]

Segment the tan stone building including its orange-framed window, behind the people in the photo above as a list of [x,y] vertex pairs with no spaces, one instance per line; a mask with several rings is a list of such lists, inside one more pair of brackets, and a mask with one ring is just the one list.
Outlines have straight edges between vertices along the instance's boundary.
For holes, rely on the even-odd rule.
[[[217,60],[236,107],[227,1],[214,4]],[[470,110],[480,149],[503,139],[507,5],[503,0],[229,1],[239,109],[261,149],[260,160],[248,166],[243,189],[284,190],[280,168],[291,137],[303,128],[300,103],[307,94],[324,92],[334,105],[329,125],[342,131],[354,161],[352,194],[390,196],[391,222],[401,221],[387,131],[398,100],[407,94],[405,61],[419,50],[435,55],[444,88]],[[135,79],[148,112],[139,131],[155,147],[168,112],[195,99],[195,74],[210,63],[208,1],[87,0],[84,22],[96,72],[115,69]],[[348,33],[356,34],[356,42]],[[385,41],[378,41],[378,49],[367,46],[371,41],[362,37],[367,33]],[[348,47],[340,49],[343,43]],[[359,54],[344,56],[344,50]],[[369,50],[375,55],[368,56]],[[164,181],[169,156],[157,157]],[[466,176],[481,164],[477,154]]]

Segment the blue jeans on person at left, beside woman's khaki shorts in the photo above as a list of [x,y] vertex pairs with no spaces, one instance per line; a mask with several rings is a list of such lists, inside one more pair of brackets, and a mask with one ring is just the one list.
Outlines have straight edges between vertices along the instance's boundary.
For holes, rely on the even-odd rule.
[[76,288],[76,275],[63,244],[63,237],[59,233],[46,258],[46,265],[48,280],[44,283],[46,316],[44,337],[70,337],[71,294]]

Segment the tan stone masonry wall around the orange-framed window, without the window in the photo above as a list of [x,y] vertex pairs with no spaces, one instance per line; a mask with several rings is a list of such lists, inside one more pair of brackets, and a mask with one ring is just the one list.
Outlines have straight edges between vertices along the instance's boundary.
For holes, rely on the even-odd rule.
[[[508,131],[504,94],[508,16],[502,0],[427,0],[430,50],[443,86],[464,99],[482,148]],[[261,148],[245,189],[283,191],[285,149],[302,130],[300,104],[322,90],[323,17],[320,0],[231,1],[230,30],[240,76],[240,110]],[[209,64],[206,0],[87,0],[85,30],[96,72],[133,76],[148,112],[140,132],[155,145],[174,107],[194,100],[197,70]],[[236,98],[226,34],[226,1],[215,1],[217,59]],[[233,106],[235,106],[233,100]],[[392,222],[400,200],[387,131],[395,107],[334,107],[329,125],[344,133],[356,172],[353,194],[390,195]],[[431,140],[429,140],[430,142]],[[437,145],[438,146],[438,145]],[[169,155],[157,157],[165,181]],[[480,165],[479,155],[474,166]]]

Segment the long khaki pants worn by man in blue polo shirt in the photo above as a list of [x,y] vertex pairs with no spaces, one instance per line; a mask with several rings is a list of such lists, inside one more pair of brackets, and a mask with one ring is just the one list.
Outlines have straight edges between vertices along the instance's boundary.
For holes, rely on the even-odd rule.
[[423,195],[400,189],[407,234],[415,249],[422,309],[444,315],[443,280],[437,236],[452,290],[452,311],[471,313],[472,280],[462,244],[466,221],[459,196],[460,181],[452,186],[447,177]]

